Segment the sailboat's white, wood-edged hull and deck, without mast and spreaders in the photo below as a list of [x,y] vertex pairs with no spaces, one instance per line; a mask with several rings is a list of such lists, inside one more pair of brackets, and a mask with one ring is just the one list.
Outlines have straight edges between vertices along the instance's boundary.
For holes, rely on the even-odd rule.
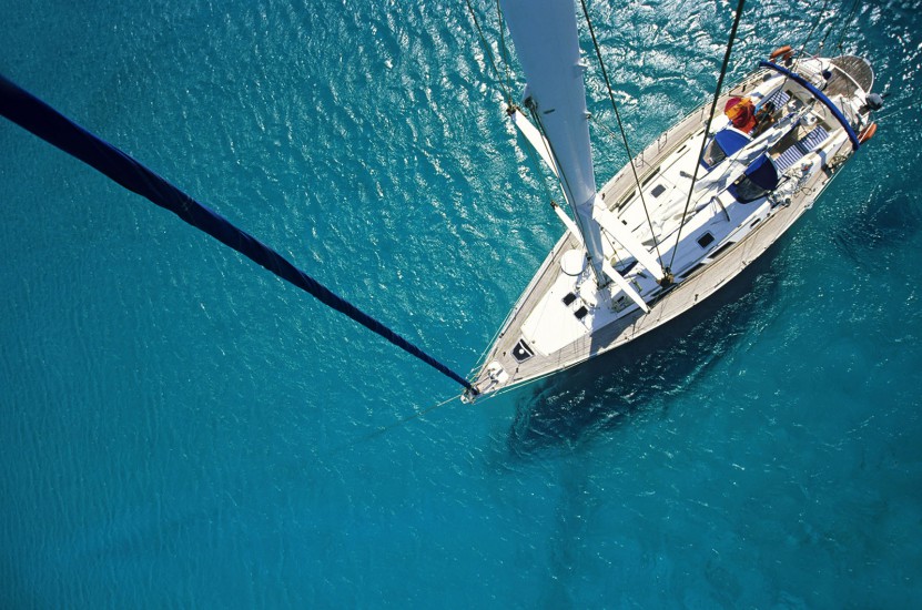
[[[819,73],[822,67],[828,65],[821,65],[820,60],[810,60],[803,62],[800,70],[804,74],[813,73],[817,82],[824,85]],[[827,91],[835,105],[854,120],[853,126],[861,129],[868,122],[867,108],[861,106],[867,91],[852,87],[851,80],[843,81],[844,77],[843,72],[837,74],[839,80],[829,81]],[[807,89],[794,81],[780,79],[769,70],[757,70],[721,98],[711,132],[727,126],[722,109],[728,99],[768,98],[777,92],[779,81],[781,89],[790,93],[790,101],[779,111],[779,124],[772,128],[778,133],[772,134],[772,129],[768,129],[760,134],[767,144],[762,152],[768,152],[772,166],[778,167],[780,180],[777,189],[764,197],[746,203],[728,195],[727,183],[734,181],[747,167],[758,153],[754,150],[758,146],[753,143],[751,153],[747,153],[747,148],[740,151],[739,155],[747,159],[737,165],[732,163],[732,155],[728,155],[707,175],[702,175],[703,172],[699,174],[691,203],[693,213],[686,218],[677,245],[681,217],[676,218],[676,206],[685,203],[683,197],[691,184],[690,174],[698,160],[710,104],[692,112],[635,160],[648,207],[651,209],[663,266],[668,266],[676,251],[671,265],[675,283],[662,286],[640,265],[635,264],[632,268],[622,265],[619,273],[637,288],[649,308],[644,312],[626,299],[626,293],[617,286],[609,284],[599,288],[588,268],[579,268],[579,261],[574,261],[571,251],[581,251],[582,245],[578,235],[567,231],[526,287],[485,354],[473,380],[480,396],[489,396],[614,349],[626,348],[635,338],[675,319],[725,286],[813,205],[842,163],[853,154],[854,146],[833,113],[811,101]],[[844,89],[843,82],[848,85]],[[841,91],[834,90],[833,83],[844,91],[844,98]],[[870,84],[865,87],[870,89]],[[783,101],[783,96],[773,99]],[[782,119],[786,115],[794,116],[798,122],[784,125]],[[822,129],[815,131],[817,126]],[[787,150],[788,141],[794,142],[798,138],[803,138],[801,142],[810,141],[803,136],[804,131],[812,131],[811,135],[825,135],[804,154],[794,151],[793,146]],[[752,138],[753,142],[759,138]],[[656,255],[649,224],[646,218],[644,222],[639,220],[642,207],[639,203],[634,205],[638,200],[636,186],[634,174],[626,166],[599,191],[599,196],[609,212]],[[663,203],[659,204],[659,200]],[[682,206],[679,205],[679,212]],[[611,256],[612,265],[627,258],[615,243],[607,254]]]

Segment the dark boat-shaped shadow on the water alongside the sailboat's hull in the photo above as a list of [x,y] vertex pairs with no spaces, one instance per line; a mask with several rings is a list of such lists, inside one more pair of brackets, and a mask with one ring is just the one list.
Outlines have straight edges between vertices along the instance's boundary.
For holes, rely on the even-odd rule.
[[668,399],[728,353],[766,304],[776,302],[780,281],[772,250],[703,306],[523,393],[509,428],[509,453],[526,457],[573,448],[641,413],[665,411]]

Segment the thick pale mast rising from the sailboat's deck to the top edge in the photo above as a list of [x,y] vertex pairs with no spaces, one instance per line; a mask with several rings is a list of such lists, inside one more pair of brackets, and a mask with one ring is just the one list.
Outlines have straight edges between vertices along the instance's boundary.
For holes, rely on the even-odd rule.
[[547,136],[550,156],[574,213],[586,255],[599,286],[609,283],[602,270],[601,230],[592,218],[596,177],[586,109],[586,63],[579,55],[576,11],[571,0],[500,0],[516,54],[528,82],[526,106]]

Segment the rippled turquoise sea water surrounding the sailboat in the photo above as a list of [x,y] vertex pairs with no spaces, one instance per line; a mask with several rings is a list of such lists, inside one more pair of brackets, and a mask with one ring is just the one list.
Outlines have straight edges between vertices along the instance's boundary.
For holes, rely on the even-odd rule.
[[[560,232],[463,2],[3,3],[0,72],[456,369]],[[639,149],[734,3],[602,4]],[[0,607],[912,607],[922,10],[857,23],[878,135],[707,312],[383,434],[458,388],[0,122]]]

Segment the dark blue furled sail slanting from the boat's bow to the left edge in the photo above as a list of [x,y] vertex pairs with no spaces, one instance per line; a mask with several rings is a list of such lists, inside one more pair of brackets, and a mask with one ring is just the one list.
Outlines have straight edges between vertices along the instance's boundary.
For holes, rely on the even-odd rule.
[[477,390],[460,375],[436,360],[391,328],[337,296],[320,282],[295,267],[284,256],[266,246],[230,221],[196,202],[174,185],[115,146],[103,142],[70,119],[0,75],[0,114],[49,144],[79,159],[129,191],[176,214],[192,226],[207,233],[317,298],[324,305],[347,315],[373,333],[450,377],[474,394]]

